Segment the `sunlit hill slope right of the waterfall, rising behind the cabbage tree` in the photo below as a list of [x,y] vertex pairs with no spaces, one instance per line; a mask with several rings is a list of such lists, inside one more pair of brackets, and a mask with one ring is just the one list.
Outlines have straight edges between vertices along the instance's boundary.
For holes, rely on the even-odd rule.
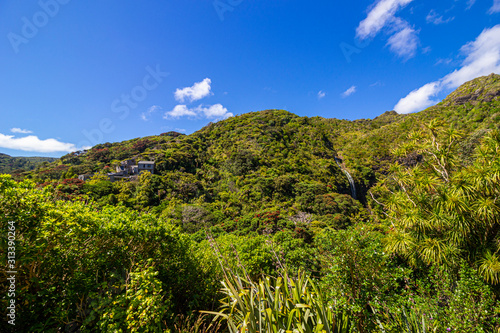
[[342,151],[347,167],[366,185],[368,179],[373,180],[376,174],[385,173],[388,165],[397,160],[391,149],[407,142],[410,132],[423,130],[432,120],[442,121],[464,133],[461,158],[470,164],[479,139],[487,131],[500,126],[500,75],[476,78],[424,111],[400,116],[371,131],[352,133]]

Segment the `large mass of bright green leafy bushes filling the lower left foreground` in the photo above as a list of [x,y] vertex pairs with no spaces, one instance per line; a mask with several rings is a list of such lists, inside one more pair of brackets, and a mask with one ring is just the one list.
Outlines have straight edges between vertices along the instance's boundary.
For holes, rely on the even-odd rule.
[[[54,201],[48,188],[0,175],[0,227],[7,230],[9,221],[16,224],[20,330],[71,329],[86,320],[104,331],[128,329],[125,323],[165,328],[171,312],[207,307],[217,293],[213,263],[187,235],[152,216]],[[2,241],[4,254],[6,246]],[[0,286],[6,295],[6,282]],[[154,317],[150,308],[158,310]]]

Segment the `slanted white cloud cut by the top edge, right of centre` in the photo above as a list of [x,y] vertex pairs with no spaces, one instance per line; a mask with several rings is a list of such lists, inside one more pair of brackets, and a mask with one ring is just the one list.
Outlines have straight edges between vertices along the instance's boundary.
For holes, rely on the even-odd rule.
[[394,21],[398,9],[406,6],[413,0],[380,0],[361,21],[356,29],[356,36],[365,39],[375,37],[387,24]]

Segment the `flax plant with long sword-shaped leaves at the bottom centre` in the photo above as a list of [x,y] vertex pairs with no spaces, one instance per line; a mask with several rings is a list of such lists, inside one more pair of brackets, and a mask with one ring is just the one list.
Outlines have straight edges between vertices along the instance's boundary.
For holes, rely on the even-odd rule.
[[314,281],[299,272],[296,278],[263,277],[258,283],[231,273],[222,281],[221,301],[214,321],[227,321],[236,332],[350,332],[352,320],[347,313],[328,307]]

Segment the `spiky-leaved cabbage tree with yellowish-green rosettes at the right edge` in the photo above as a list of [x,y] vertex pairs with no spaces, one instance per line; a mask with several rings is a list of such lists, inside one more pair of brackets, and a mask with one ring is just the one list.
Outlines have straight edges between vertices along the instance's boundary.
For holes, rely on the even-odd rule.
[[[394,164],[372,191],[391,226],[386,249],[413,265],[457,267],[460,258],[490,283],[500,282],[500,133],[489,132],[475,162],[460,165],[461,134],[436,121],[394,152],[423,154],[413,167]],[[374,195],[375,194],[375,195]],[[376,198],[378,197],[378,199]]]

